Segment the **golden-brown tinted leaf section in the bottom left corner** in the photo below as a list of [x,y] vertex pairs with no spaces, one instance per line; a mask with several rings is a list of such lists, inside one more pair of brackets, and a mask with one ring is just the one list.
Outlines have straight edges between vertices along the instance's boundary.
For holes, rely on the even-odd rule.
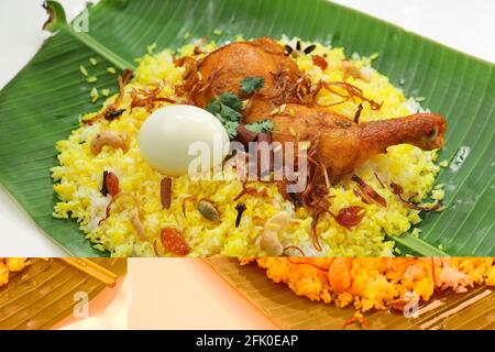
[[[31,265],[0,288],[0,330],[50,329],[68,317],[78,304],[76,293],[96,297],[108,284],[69,263],[31,258]],[[127,272],[125,258],[91,258],[118,276]]]

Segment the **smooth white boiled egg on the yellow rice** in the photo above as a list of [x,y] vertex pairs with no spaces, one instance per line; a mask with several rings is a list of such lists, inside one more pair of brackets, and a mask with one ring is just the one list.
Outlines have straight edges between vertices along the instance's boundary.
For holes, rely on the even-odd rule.
[[153,168],[166,176],[182,176],[221,164],[228,153],[229,136],[210,112],[173,105],[155,110],[143,122],[138,143]]

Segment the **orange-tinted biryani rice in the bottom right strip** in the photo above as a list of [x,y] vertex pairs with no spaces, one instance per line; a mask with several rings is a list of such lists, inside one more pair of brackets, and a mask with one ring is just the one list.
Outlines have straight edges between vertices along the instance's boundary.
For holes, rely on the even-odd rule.
[[298,296],[361,311],[403,310],[414,299],[428,301],[442,290],[460,294],[476,286],[495,286],[493,257],[241,260],[241,264],[252,262]]

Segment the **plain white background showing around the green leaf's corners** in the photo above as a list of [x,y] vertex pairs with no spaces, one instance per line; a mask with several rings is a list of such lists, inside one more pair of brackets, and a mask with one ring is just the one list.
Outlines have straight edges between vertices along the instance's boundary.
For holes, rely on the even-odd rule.
[[[61,2],[68,16],[73,18],[84,8],[86,0]],[[495,62],[493,0],[336,0],[336,2],[398,24],[462,52]],[[0,88],[29,62],[46,37],[41,31],[46,19],[41,4],[42,0],[0,1]],[[0,186],[0,256],[64,254],[65,252],[36,228],[22,208]]]

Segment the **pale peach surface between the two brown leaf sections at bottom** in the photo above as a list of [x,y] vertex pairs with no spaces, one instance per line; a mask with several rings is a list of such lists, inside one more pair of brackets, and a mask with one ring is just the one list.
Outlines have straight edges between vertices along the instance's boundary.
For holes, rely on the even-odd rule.
[[277,329],[198,258],[131,258],[130,329]]

